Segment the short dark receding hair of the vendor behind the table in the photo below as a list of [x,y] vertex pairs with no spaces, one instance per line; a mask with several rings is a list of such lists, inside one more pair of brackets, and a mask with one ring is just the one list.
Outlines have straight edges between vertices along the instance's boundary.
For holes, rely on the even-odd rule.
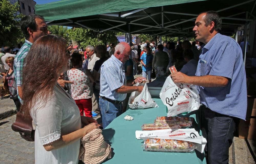
[[222,24],[220,15],[216,11],[206,11],[201,12],[200,14],[202,13],[206,13],[205,26],[208,26],[211,22],[214,22],[214,30],[220,32]]

